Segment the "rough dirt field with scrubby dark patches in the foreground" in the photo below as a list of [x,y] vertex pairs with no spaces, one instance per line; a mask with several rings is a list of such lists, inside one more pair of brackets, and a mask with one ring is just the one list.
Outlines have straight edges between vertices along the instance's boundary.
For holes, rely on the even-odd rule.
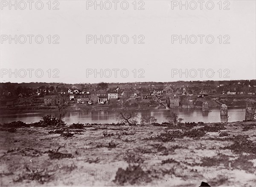
[[0,186],[255,187],[255,124],[1,129]]

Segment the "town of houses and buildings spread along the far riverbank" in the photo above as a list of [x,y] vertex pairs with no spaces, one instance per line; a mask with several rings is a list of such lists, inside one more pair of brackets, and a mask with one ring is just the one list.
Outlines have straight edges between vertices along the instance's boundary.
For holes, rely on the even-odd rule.
[[[180,105],[180,100],[185,96],[205,97],[210,94],[221,95],[255,95],[256,86],[242,85],[241,83],[233,85],[218,85],[215,88],[211,86],[189,87],[189,86],[172,86],[165,85],[162,87],[152,88],[115,88],[109,90],[78,90],[76,88],[68,89],[67,92],[61,94],[68,94],[69,101],[76,101],[77,104],[92,105],[93,103],[106,104],[119,98],[135,98],[142,99],[157,98],[158,102],[165,102],[168,107],[176,107]],[[183,98],[182,98],[183,97]],[[59,102],[58,96],[44,96],[44,105],[56,105]]]

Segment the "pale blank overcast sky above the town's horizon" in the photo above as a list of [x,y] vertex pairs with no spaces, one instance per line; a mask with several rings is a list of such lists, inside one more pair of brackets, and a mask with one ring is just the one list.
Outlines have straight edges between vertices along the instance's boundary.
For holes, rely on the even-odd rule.
[[[29,10],[29,3],[26,3],[27,7],[24,10],[20,10],[19,7],[17,10],[14,7],[9,10],[8,5],[2,5],[2,39],[3,35],[18,37],[31,34],[42,35],[44,42],[36,43],[35,37],[32,37],[31,44],[29,37],[26,37],[27,41],[24,44],[19,41],[15,44],[14,40],[9,44],[9,38],[2,40],[1,82],[94,83],[256,79],[255,0],[229,1],[230,5],[222,3],[221,10],[218,1],[214,1],[212,10],[208,10],[205,4],[202,10],[200,7],[195,10],[186,10],[183,7],[180,10],[179,6],[174,7],[173,2],[167,0],[144,1],[144,5],[137,2],[136,10],[133,1],[128,2],[127,10],[123,10],[120,3],[115,10],[112,1],[110,10],[100,10],[99,7],[95,10],[93,6],[87,8],[86,1],[62,0],[58,1],[59,10],[52,10],[53,6],[57,5],[53,2],[49,10],[47,2],[44,1],[44,8],[41,10],[36,9],[35,4],[32,4],[32,10]],[[200,6],[199,3],[197,5]],[[123,6],[125,8],[125,4]],[[139,6],[144,10],[138,10]],[[223,10],[225,6],[230,10]],[[20,7],[23,5],[20,4]],[[49,44],[49,35],[58,35],[59,44],[52,44],[57,37],[52,38]],[[87,35],[127,35],[129,42],[123,44],[118,37],[115,44],[112,37],[110,44],[104,41],[102,44],[99,41],[95,44],[94,40],[86,40]],[[137,36],[136,44],[132,38],[134,35]],[[139,35],[145,38],[138,38]],[[186,44],[185,41],[180,44],[179,40],[172,43],[172,35],[212,35],[214,42],[209,44],[203,37],[201,44],[200,37],[197,37],[198,41],[195,44]],[[219,35],[222,36],[221,44]],[[145,43],[138,44],[140,39]],[[191,37],[193,42],[192,39]],[[20,40],[23,41],[21,37]],[[224,44],[225,41],[230,44]],[[13,72],[15,69],[34,71],[31,77],[29,71],[26,71],[26,76],[23,76],[22,71],[20,75],[17,72],[15,77],[15,74],[9,75],[9,69]],[[43,77],[35,76],[37,69],[43,70]],[[48,69],[58,69],[59,72],[52,72],[49,77]],[[100,74],[96,74],[95,78],[94,72],[88,69],[96,69],[98,72],[102,69],[102,78]],[[109,71],[105,71],[104,74],[106,69],[111,70],[112,76],[109,76]],[[119,69],[116,77],[112,69]],[[123,77],[120,74],[123,69],[128,70],[129,75],[126,78],[123,78],[126,70],[122,71]],[[136,75],[134,69],[137,71]],[[139,72],[139,69],[143,70]],[[187,77],[186,73],[180,77],[175,69],[182,69],[183,72],[187,69]],[[191,69],[195,69],[197,75]],[[205,70],[201,71],[202,76],[198,69]],[[215,72],[213,77],[210,69]],[[222,71],[221,75],[219,69]],[[55,73],[58,73],[59,78],[53,77]],[[144,78],[140,78],[140,74]],[[40,72],[38,75],[40,76]]]

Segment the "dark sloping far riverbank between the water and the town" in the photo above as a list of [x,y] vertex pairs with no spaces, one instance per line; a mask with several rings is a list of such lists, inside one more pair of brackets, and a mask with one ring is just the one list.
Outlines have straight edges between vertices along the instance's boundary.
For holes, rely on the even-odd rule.
[[[184,97],[184,96],[183,96]],[[26,98],[22,98],[23,100]],[[31,98],[30,98],[31,99]],[[34,99],[35,100],[35,99]],[[37,99],[38,100],[38,99]],[[193,106],[188,106],[187,101],[193,100]],[[221,104],[225,104],[228,107],[246,107],[247,103],[256,103],[256,96],[244,96],[244,95],[211,95],[209,97],[198,98],[196,96],[188,97],[187,99],[181,99],[179,107],[171,107],[173,108],[202,108],[202,103],[208,102],[209,108],[219,108]],[[33,104],[20,104],[26,103],[17,102],[15,105],[2,105],[0,106],[0,112],[3,114],[15,111],[16,113],[24,113],[24,112],[43,112],[43,111],[58,111],[56,107],[52,106],[44,106],[43,100],[41,99],[41,103]],[[130,98],[130,99],[119,99],[115,102],[110,102],[109,104],[94,104],[94,105],[86,105],[86,104],[76,104],[76,101],[71,101],[67,111],[116,111],[120,109],[131,109],[131,110],[147,110],[147,109],[165,109],[163,105],[160,105],[155,99],[142,99],[140,97]]]

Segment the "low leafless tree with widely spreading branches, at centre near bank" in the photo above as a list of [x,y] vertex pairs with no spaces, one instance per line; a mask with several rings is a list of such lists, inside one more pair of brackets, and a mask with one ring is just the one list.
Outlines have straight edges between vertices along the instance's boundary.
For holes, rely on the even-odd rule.
[[122,111],[116,116],[119,123],[136,125],[138,123],[138,114],[135,111]]

